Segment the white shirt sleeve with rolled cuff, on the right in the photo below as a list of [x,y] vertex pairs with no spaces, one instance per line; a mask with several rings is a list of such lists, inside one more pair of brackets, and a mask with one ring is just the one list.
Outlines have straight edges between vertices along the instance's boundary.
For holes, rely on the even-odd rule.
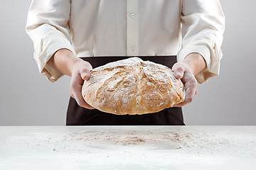
[[203,83],[220,72],[225,17],[218,0],[183,0],[181,12],[182,44],[177,60],[192,52],[202,55],[207,67],[196,79]]

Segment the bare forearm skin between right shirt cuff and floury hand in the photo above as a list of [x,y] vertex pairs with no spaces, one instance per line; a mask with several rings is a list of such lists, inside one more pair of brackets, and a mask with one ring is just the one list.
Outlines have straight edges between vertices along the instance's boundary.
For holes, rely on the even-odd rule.
[[182,62],[191,69],[191,72],[193,72],[194,76],[202,72],[203,69],[206,69],[206,61],[198,53],[191,53],[187,55]]

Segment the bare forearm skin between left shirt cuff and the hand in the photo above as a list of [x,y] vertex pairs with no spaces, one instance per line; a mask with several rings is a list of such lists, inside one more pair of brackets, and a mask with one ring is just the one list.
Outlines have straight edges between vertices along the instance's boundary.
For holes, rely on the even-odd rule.
[[78,62],[80,62],[80,59],[75,57],[73,52],[68,49],[60,49],[47,63],[62,74],[72,76],[73,67]]

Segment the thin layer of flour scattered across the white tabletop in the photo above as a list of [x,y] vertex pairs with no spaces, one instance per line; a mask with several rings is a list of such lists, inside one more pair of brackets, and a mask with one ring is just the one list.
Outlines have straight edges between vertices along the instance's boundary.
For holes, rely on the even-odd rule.
[[111,146],[167,146],[174,149],[195,147],[197,149],[216,148],[221,145],[234,145],[235,142],[225,137],[215,135],[197,134],[190,132],[151,132],[151,131],[127,131],[127,132],[73,132],[63,137],[48,137],[45,142],[55,143],[80,143],[84,145],[111,145]]

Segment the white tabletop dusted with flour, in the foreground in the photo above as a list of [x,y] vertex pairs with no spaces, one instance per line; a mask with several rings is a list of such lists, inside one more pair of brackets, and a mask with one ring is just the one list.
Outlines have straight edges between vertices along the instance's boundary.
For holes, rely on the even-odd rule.
[[256,126],[2,126],[0,169],[256,169]]

